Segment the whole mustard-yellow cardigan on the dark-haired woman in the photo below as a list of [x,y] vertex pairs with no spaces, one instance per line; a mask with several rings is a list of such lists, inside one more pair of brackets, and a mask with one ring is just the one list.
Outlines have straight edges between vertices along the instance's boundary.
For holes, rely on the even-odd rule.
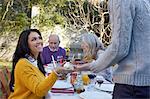
[[37,67],[22,58],[16,64],[15,88],[8,99],[42,99],[56,80],[54,72],[45,77]]

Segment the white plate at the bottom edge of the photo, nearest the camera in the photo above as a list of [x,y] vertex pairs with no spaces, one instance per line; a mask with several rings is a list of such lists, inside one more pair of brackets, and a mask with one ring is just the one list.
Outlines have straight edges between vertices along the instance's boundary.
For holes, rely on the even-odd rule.
[[85,91],[79,94],[81,99],[112,99],[111,94],[106,92]]

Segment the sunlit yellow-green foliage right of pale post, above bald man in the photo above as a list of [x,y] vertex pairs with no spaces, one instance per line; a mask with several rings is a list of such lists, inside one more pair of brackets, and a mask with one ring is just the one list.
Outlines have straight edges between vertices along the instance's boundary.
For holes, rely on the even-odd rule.
[[[64,18],[57,11],[57,7],[48,4],[38,5],[40,7],[40,14],[33,18],[33,23],[37,25],[40,29],[44,26],[54,27],[56,24],[64,25]],[[37,20],[39,19],[39,20]]]

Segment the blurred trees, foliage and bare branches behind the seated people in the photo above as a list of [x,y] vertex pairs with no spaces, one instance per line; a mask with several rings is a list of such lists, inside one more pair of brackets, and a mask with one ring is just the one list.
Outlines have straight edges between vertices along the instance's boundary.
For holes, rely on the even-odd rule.
[[[42,32],[59,25],[70,43],[78,41],[83,31],[93,32],[108,46],[111,29],[107,3],[108,0],[0,0],[0,59],[11,60],[18,35],[27,28]],[[39,11],[35,16],[33,7]]]

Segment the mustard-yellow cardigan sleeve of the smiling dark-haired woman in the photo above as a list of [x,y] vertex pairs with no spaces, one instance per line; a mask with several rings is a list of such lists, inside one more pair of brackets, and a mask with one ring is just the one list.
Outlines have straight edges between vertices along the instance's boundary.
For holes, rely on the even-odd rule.
[[45,96],[57,80],[57,75],[54,72],[45,77],[38,68],[34,68],[25,59],[19,61],[17,65],[16,74],[19,76],[20,82],[37,96]]

